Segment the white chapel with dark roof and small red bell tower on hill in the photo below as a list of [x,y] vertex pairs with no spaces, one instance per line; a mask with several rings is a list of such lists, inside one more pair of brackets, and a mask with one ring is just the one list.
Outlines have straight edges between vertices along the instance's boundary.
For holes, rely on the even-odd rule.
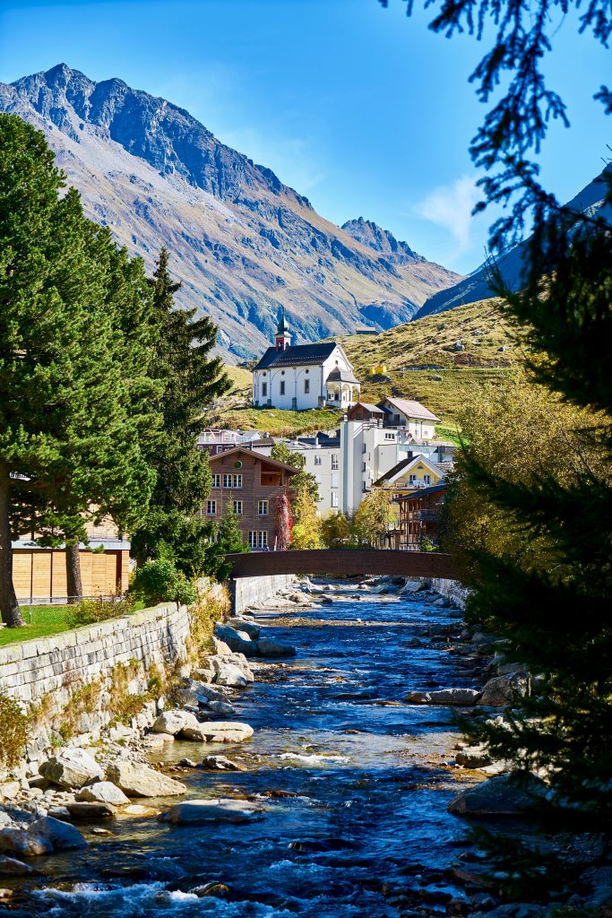
[[292,345],[291,339],[282,309],[274,346],[253,370],[255,408],[304,411],[331,405],[347,410],[359,401],[360,382],[339,344]]

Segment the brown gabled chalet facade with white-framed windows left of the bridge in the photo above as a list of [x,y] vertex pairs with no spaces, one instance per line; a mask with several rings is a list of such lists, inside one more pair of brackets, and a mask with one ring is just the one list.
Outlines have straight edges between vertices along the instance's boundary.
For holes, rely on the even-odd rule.
[[251,549],[273,550],[276,542],[276,500],[291,499],[292,465],[238,446],[210,457],[213,487],[202,516],[220,521],[231,503],[239,519],[244,542]]

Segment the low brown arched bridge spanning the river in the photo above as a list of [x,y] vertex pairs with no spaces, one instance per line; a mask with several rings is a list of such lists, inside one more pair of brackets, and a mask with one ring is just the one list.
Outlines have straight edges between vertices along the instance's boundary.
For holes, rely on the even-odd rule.
[[229,576],[235,579],[273,574],[311,574],[322,577],[386,574],[396,577],[436,577],[443,580],[454,580],[457,576],[451,555],[439,552],[330,548],[227,554],[226,561],[232,565]]

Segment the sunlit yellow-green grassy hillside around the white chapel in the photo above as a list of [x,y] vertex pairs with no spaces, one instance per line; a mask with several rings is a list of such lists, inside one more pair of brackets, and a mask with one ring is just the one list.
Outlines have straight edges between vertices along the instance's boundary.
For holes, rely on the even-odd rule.
[[[362,401],[375,403],[385,395],[415,398],[439,416],[440,434],[451,439],[474,388],[511,373],[524,354],[519,331],[501,317],[495,300],[427,316],[380,335],[345,335],[336,340],[362,381]],[[436,368],[417,369],[424,364]],[[372,369],[381,365],[384,374],[372,375]],[[217,405],[213,422],[221,427],[286,436],[338,424],[339,412],[333,409],[250,408],[250,371],[235,366],[227,370],[235,385]]]

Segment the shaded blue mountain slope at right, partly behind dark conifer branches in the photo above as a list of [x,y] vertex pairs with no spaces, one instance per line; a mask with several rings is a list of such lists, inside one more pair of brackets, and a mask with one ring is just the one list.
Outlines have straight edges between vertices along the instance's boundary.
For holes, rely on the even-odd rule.
[[[568,202],[567,207],[576,212],[584,211],[594,216],[597,214],[612,224],[612,207],[606,205],[604,200],[606,184],[603,181],[603,175],[604,173],[598,175],[593,182],[586,185]],[[511,290],[518,290],[520,287],[528,244],[528,242],[521,242],[496,259],[496,266]],[[472,274],[463,277],[458,284],[429,297],[425,306],[417,311],[414,318],[422,319],[434,312],[445,312],[447,309],[453,309],[465,303],[475,303],[494,296],[494,291],[489,283],[489,272],[488,264],[481,264]]]

